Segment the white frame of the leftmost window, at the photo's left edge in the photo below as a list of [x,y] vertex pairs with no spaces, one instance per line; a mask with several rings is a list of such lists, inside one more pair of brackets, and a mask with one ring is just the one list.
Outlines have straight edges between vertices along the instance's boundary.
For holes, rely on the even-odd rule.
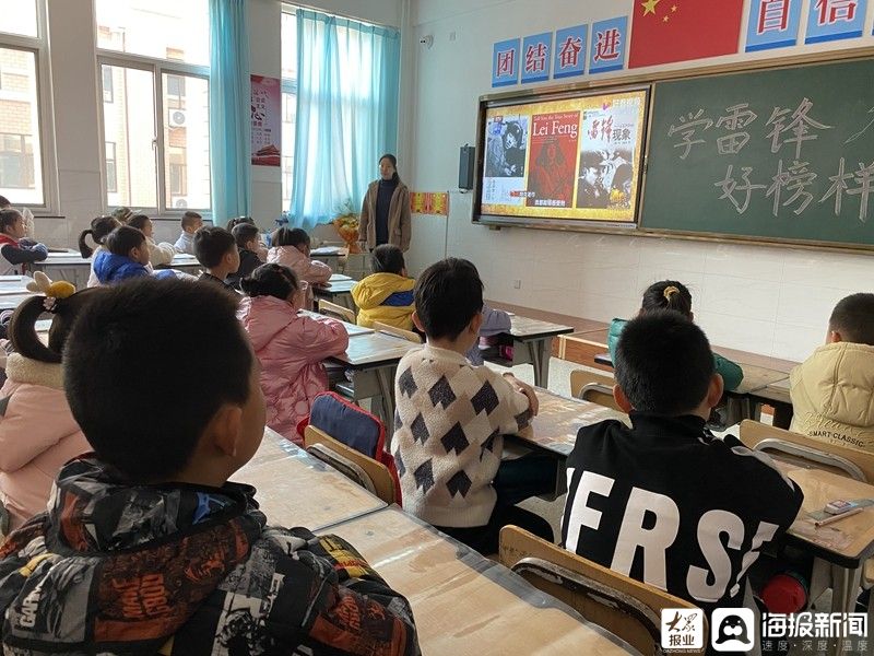
[[[36,1],[36,36],[25,36],[22,34],[10,34],[0,32],[0,48],[11,50],[22,50],[34,55],[34,73],[36,80],[34,87],[36,91],[37,125],[34,136],[39,139],[39,164],[43,179],[43,202],[23,203],[15,199],[15,207],[27,208],[36,215],[51,215],[57,213],[58,200],[58,177],[57,177],[57,152],[55,148],[55,107],[52,103],[51,89],[49,82],[49,50],[48,39],[48,13],[45,0]],[[36,151],[34,151],[34,155]],[[34,169],[36,174],[36,169]]]

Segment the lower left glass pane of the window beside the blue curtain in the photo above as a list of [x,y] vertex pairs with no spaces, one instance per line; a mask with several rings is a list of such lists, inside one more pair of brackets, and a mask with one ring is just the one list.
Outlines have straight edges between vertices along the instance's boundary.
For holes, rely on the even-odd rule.
[[116,144],[116,190],[107,191],[107,204],[156,208],[154,77],[120,66],[104,69],[115,87],[115,102],[103,104],[104,141]]

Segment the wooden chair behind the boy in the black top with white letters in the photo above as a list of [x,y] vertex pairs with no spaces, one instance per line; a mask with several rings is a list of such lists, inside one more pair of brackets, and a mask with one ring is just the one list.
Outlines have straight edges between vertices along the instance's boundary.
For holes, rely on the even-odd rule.
[[[695,609],[669,595],[593,563],[519,528],[500,529],[500,562],[538,589],[560,599],[646,655],[662,654],[663,608]],[[708,644],[707,616],[704,645]],[[704,654],[701,648],[697,654]]]

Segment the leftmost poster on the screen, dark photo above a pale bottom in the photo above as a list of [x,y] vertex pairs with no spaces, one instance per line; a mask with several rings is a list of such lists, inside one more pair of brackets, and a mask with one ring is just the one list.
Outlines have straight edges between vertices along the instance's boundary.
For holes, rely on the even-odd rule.
[[483,202],[524,204],[530,117],[497,114],[486,124]]

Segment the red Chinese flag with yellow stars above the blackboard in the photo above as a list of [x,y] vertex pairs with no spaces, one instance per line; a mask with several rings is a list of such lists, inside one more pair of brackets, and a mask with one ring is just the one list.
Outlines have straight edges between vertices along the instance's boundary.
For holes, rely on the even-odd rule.
[[737,51],[744,0],[635,0],[628,68]]

